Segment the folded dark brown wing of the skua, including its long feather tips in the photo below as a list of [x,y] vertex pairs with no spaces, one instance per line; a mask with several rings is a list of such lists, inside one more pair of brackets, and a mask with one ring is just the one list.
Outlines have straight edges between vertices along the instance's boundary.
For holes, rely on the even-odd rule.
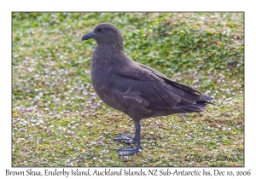
[[111,80],[114,93],[123,98],[126,105],[164,109],[205,101],[200,91],[172,82],[160,72],[140,65],[118,70]]

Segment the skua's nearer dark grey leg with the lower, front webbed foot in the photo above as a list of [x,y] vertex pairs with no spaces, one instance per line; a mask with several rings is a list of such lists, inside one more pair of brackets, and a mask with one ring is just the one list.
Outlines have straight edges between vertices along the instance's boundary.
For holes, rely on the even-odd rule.
[[138,122],[135,124],[135,138],[136,138],[136,143],[137,147],[126,147],[126,148],[120,148],[118,149],[118,153],[121,155],[133,155],[142,148],[141,147],[141,124]]

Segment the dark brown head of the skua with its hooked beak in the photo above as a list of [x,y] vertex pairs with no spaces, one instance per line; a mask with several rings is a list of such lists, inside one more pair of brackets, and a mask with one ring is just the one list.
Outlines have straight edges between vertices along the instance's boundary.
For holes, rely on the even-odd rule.
[[93,38],[98,44],[121,43],[123,45],[122,33],[116,26],[109,23],[97,25],[94,30],[83,36],[82,41]]

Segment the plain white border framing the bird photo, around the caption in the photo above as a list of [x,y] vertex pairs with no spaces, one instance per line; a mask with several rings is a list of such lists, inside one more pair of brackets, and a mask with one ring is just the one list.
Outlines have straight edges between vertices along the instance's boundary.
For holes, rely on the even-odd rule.
[[[125,3],[124,3],[125,2]],[[255,7],[253,1],[214,0],[214,1],[32,1],[13,0],[1,3],[1,65],[0,65],[0,176],[11,168],[11,12],[12,11],[244,11],[245,12],[245,168],[218,168],[219,170],[252,170],[255,178]],[[146,168],[144,168],[146,169]],[[158,168],[159,169],[159,168]],[[182,169],[182,168],[178,168]],[[194,170],[195,168],[184,168]],[[209,168],[214,170],[216,168]],[[26,169],[24,169],[26,170]],[[38,170],[44,170],[42,168]],[[139,170],[139,169],[134,169]],[[57,177],[57,176],[56,176]],[[85,177],[85,176],[84,176]],[[110,176],[105,176],[110,177]],[[111,176],[113,177],[113,176]],[[125,176],[124,176],[125,177]],[[130,176],[131,177],[131,176]],[[170,176],[169,176],[170,177]],[[198,177],[198,176],[197,176]],[[227,176],[225,176],[227,177]],[[49,178],[49,177],[48,177]],[[62,177],[63,178],[63,177]],[[69,177],[70,178],[70,177]],[[183,178],[183,177],[181,177]]]

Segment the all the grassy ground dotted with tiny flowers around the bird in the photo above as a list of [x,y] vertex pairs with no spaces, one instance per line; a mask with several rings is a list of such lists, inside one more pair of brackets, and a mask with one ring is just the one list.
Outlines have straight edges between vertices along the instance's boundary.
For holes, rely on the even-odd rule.
[[[218,107],[145,119],[142,153],[119,156],[112,137],[133,123],[97,97],[96,43],[81,43],[104,21],[133,60]],[[13,166],[243,166],[243,34],[242,13],[13,13]]]

